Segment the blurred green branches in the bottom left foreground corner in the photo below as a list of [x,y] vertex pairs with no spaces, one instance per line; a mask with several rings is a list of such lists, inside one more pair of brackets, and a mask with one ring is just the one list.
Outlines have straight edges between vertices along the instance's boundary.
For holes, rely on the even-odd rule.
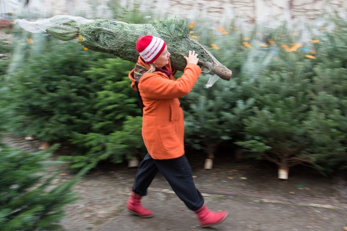
[[64,207],[76,199],[72,187],[85,171],[53,185],[57,174],[46,177],[44,166],[57,147],[37,153],[0,147],[0,230],[61,230]]

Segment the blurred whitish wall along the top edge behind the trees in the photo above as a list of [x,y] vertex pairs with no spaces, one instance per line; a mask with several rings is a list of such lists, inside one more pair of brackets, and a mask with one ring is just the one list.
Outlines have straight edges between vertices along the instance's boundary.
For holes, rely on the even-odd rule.
[[122,7],[140,5],[143,12],[152,12],[155,19],[177,15],[185,19],[209,19],[219,23],[238,18],[247,22],[267,19],[315,19],[333,9],[346,14],[347,0],[0,0],[0,13],[14,13],[32,18],[53,15],[112,18],[108,1]]

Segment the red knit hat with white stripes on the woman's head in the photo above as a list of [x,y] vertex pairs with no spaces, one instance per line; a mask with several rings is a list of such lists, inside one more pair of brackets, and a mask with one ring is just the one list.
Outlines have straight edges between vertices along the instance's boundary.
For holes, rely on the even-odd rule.
[[165,47],[164,40],[152,35],[142,36],[136,42],[136,50],[146,63],[153,63]]

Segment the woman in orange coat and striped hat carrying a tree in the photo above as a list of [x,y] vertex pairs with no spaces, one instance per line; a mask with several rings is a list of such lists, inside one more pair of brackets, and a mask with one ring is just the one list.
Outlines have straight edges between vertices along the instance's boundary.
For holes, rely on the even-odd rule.
[[127,210],[145,218],[153,216],[151,210],[142,207],[140,200],[160,171],[176,195],[196,212],[202,227],[220,224],[228,212],[212,212],[204,205],[184,153],[183,110],[178,98],[190,92],[201,74],[197,54],[189,51],[188,57],[183,57],[187,66],[176,80],[173,77],[176,70],[171,68],[170,53],[162,39],[143,36],[138,39],[136,50],[140,56],[129,78],[131,87],[138,90],[143,102],[142,136],[148,153],[137,169]]

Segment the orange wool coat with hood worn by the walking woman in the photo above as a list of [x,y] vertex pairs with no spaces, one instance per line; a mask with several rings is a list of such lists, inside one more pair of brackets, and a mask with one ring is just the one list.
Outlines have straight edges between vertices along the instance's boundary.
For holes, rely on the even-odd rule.
[[[139,69],[140,67],[140,69]],[[142,68],[142,70],[141,70]],[[165,160],[184,155],[184,118],[178,98],[187,95],[201,74],[194,63],[188,63],[177,80],[171,63],[166,65],[173,71],[170,78],[162,72],[146,72],[149,65],[139,57],[135,68],[129,73],[131,87],[135,90],[135,80],[144,104],[142,136],[149,154],[153,159]]]

